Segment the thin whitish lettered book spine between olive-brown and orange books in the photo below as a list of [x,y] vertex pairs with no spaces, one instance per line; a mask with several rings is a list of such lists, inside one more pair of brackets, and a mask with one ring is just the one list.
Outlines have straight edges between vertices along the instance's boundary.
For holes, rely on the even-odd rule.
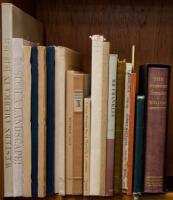
[[122,189],[127,188],[128,173],[128,140],[129,140],[129,114],[130,114],[130,84],[131,84],[132,64],[126,63],[125,75],[125,99],[124,99],[124,128],[123,128],[123,166],[122,166]]

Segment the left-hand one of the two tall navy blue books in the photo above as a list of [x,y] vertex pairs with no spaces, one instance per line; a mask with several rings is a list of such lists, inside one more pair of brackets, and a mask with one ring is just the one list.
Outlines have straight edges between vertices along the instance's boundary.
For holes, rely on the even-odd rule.
[[31,50],[31,191],[38,195],[38,50]]

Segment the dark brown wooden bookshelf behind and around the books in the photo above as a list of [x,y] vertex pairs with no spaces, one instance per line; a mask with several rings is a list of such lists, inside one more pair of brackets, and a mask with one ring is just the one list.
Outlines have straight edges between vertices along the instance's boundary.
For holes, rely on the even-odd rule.
[[[81,52],[86,72],[91,69],[89,35],[94,33],[103,34],[111,42],[111,51],[117,52],[120,58],[125,57],[127,61],[131,59],[131,46],[135,44],[136,71],[143,63],[173,65],[173,2],[171,0],[0,0],[0,2],[12,2],[42,21],[45,29],[45,45],[64,45]],[[173,72],[171,76],[173,77]],[[173,89],[173,80],[170,89],[171,91]],[[170,97],[170,105],[173,105],[172,92]],[[168,149],[173,145],[173,106],[169,108],[169,122]],[[168,150],[166,159],[168,175],[173,177],[173,151]],[[2,165],[0,169],[2,171]],[[3,199],[2,189],[0,194]],[[47,199],[103,198],[54,196]],[[107,199],[130,200],[132,197],[123,195]],[[144,195],[140,199],[172,200],[173,193]]]

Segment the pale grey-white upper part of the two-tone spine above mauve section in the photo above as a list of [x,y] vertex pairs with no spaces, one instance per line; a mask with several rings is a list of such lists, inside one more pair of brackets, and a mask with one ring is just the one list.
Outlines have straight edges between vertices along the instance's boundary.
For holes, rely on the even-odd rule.
[[117,60],[118,60],[118,55],[110,54],[110,57],[109,57],[109,97],[108,97],[107,139],[115,138]]

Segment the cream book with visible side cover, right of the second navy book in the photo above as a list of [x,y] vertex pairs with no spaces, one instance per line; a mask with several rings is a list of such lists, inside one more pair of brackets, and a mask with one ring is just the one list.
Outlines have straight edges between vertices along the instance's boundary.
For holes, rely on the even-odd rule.
[[80,54],[55,47],[55,193],[65,195],[66,71],[80,69]]

